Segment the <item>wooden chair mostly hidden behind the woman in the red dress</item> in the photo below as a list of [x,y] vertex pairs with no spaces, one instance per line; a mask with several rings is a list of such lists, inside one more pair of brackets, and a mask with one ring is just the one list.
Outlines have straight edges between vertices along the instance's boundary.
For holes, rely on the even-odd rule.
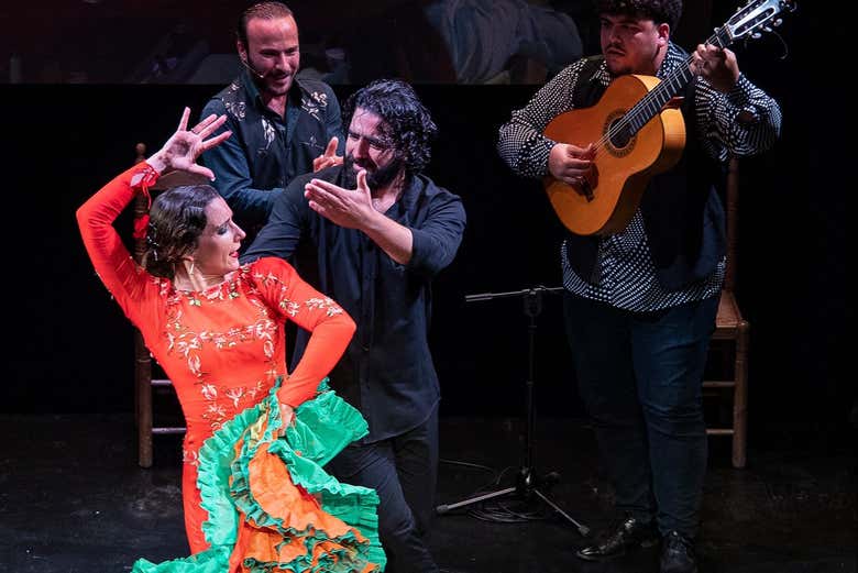
[[[146,146],[138,143],[135,147],[136,159],[140,163],[146,158]],[[208,183],[202,177],[195,177],[184,172],[173,172],[158,178],[150,188],[150,192],[177,187],[179,185],[197,185]],[[146,198],[138,195],[134,199],[134,219],[142,217],[148,210]],[[134,260],[140,263],[146,249],[145,239],[134,240]],[[143,337],[134,329],[134,418],[138,426],[138,463],[141,467],[152,466],[152,437],[156,434],[184,433],[180,426],[155,426],[153,416],[153,395],[156,388],[172,387],[168,378],[152,377],[152,355],[143,343]]]

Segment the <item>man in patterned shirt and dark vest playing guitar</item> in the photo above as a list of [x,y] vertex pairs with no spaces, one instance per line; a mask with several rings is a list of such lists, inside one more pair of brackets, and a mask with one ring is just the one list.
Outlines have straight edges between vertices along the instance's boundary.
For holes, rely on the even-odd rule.
[[[618,76],[663,78],[685,65],[689,54],[670,40],[681,11],[681,0],[597,0],[602,55],[564,68],[499,130],[497,148],[513,170],[580,185],[593,145],[551,141],[546,125],[594,106]],[[662,573],[697,571],[703,367],[725,271],[715,184],[730,156],[770,147],[781,122],[778,103],[739,71],[729,49],[698,45],[690,67],[679,163],[650,180],[625,230],[569,233],[561,249],[579,390],[617,510],[615,525],[578,557],[602,561],[661,541]]]

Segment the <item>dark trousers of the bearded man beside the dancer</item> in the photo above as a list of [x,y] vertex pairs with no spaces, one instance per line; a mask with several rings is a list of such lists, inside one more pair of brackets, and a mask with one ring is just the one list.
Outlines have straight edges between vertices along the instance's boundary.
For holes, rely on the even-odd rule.
[[378,533],[387,554],[386,573],[437,573],[424,542],[435,511],[438,481],[438,407],[408,432],[369,444],[353,444],[327,470],[378,494]]

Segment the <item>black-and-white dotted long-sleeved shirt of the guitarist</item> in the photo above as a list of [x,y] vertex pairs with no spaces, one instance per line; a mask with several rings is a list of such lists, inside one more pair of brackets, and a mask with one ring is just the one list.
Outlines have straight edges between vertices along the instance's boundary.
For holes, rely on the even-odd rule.
[[[685,65],[686,58],[688,54],[671,43],[657,76],[664,78]],[[557,142],[542,132],[554,117],[573,109],[579,82],[591,80],[607,86],[613,79],[604,62],[592,78],[582,78],[585,64],[586,59],[581,59],[563,69],[501,126],[498,153],[518,175],[541,178],[548,174],[548,156]],[[702,78],[694,81],[696,131],[704,137],[702,147],[711,157],[726,163],[730,156],[755,155],[774,143],[780,132],[780,108],[744,75],[729,93],[716,91]],[[736,121],[739,113],[741,122]],[[560,250],[563,286],[579,296],[631,311],[674,307],[721,291],[726,261],[721,261],[710,276],[682,290],[664,289],[656,277],[644,225],[638,210],[625,230],[600,238],[596,276],[590,277],[592,282],[572,269],[564,243]]]

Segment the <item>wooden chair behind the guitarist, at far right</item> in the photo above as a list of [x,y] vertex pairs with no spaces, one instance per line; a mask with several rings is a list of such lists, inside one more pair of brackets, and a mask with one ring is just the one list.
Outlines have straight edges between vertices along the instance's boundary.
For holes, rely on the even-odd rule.
[[[750,326],[741,316],[736,302],[736,261],[738,233],[738,159],[733,158],[727,173],[727,268],[724,288],[715,319],[710,362],[718,357],[723,366],[722,379],[704,379],[704,396],[724,397],[732,392],[732,423],[727,427],[707,426],[708,436],[733,438],[733,466],[745,467],[747,461],[746,441],[748,426],[748,332]],[[719,356],[718,356],[719,355]],[[732,363],[730,363],[732,362]],[[708,370],[707,365],[707,370]],[[708,377],[708,376],[707,376]]]

